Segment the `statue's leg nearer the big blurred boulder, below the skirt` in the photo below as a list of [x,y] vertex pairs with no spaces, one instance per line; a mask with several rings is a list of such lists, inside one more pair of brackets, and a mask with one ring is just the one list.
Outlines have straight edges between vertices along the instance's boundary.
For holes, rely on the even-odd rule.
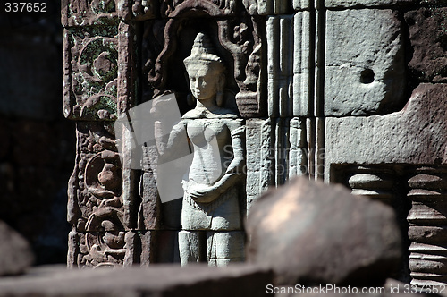
[[223,267],[245,259],[243,231],[208,231],[207,259],[209,266]]

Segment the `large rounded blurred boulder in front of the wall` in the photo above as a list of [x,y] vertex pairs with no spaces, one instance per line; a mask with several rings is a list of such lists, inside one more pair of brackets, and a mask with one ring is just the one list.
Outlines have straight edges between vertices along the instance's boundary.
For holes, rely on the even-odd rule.
[[275,284],[380,284],[401,259],[392,208],[303,177],[258,199],[247,233]]

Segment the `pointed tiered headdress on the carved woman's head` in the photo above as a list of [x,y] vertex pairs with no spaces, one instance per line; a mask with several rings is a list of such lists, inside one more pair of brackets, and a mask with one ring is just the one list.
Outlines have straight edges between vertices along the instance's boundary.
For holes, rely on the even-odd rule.
[[194,39],[191,54],[183,60],[186,68],[194,64],[216,64],[225,69],[222,59],[215,55],[213,44],[204,33],[200,32]]

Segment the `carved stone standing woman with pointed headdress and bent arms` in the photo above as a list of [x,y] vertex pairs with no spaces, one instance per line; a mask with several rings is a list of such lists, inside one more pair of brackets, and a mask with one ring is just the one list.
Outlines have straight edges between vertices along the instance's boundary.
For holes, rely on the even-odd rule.
[[[161,157],[185,133],[194,148],[188,179],[183,181],[181,265],[207,259],[210,266],[225,266],[244,258],[237,188],[244,178],[244,126],[221,106],[225,67],[205,34],[198,33],[184,64],[196,107],[182,116],[167,140],[157,140]],[[162,130],[156,122],[156,134],[160,136]]]

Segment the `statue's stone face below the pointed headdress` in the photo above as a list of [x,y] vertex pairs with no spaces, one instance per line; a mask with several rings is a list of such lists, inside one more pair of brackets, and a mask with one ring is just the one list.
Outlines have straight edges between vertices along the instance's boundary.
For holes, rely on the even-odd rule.
[[213,64],[194,64],[188,67],[192,96],[198,100],[214,98],[218,90],[221,69]]

